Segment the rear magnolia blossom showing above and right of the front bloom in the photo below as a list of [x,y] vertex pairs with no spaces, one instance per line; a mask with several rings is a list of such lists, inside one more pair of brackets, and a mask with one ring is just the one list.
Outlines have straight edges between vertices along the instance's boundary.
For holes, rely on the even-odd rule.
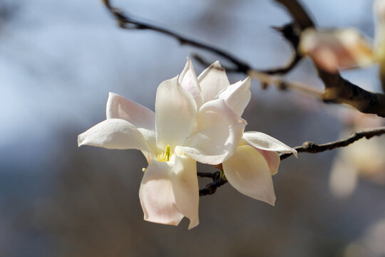
[[[242,116],[251,97],[250,78],[230,85],[219,62],[205,69],[196,79],[188,59],[180,75],[180,84],[194,96],[197,106],[222,99],[237,116]],[[235,153],[222,163],[227,181],[240,193],[274,205],[272,175],[278,171],[280,160],[277,152],[297,156],[293,148],[265,133],[243,133]]]

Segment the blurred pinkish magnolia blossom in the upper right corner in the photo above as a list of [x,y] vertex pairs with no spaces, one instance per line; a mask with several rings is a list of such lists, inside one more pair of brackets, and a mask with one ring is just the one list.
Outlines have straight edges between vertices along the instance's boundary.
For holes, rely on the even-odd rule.
[[385,81],[385,0],[375,0],[373,11],[376,22],[373,47],[371,41],[354,28],[328,31],[310,28],[301,34],[299,51],[329,72],[379,61],[381,79]]

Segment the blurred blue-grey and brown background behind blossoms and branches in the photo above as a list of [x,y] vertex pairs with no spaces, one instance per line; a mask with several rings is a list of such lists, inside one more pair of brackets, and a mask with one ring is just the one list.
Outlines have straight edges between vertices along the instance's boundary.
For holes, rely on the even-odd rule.
[[[373,36],[371,1],[302,3],[319,26],[355,26]],[[272,0],[112,4],[256,68],[282,66],[291,56],[271,29],[290,17]],[[194,52],[217,60],[152,31],[118,29],[101,1],[0,0],[0,256],[385,256],[385,156],[376,154],[385,152],[384,138],[282,161],[274,207],[226,184],[200,198],[200,225],[191,231],[187,220],[178,227],[143,221],[145,158],[78,148],[77,136],[105,119],[109,91],[154,109],[158,84],[179,74]],[[197,74],[205,69],[193,63]],[[380,90],[375,66],[343,75]],[[232,83],[244,78],[229,75]],[[308,60],[287,79],[322,89]],[[257,81],[251,90],[247,131],[289,146],[383,124],[346,106],[262,90]]]

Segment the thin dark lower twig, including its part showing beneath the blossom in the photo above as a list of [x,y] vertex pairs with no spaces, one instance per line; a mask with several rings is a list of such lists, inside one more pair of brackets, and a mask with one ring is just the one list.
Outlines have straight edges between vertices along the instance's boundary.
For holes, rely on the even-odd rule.
[[[333,141],[330,143],[317,144],[310,141],[306,141],[302,143],[302,146],[294,147],[294,149],[297,150],[298,153],[320,153],[323,151],[332,150],[334,148],[349,146],[349,144],[354,143],[355,141],[358,141],[361,138],[369,139],[374,136],[381,136],[384,134],[385,134],[385,126],[382,126],[376,129],[364,129],[361,131],[356,131],[354,133],[351,133],[351,136],[349,136],[348,138],[344,138],[338,141]],[[279,158],[282,161],[285,158],[292,155],[293,155],[292,153],[281,153],[279,155]],[[212,178],[212,183],[207,183],[205,188],[200,189],[199,191],[200,196],[206,196],[206,195],[215,193],[218,187],[227,183],[227,180],[225,180],[220,176],[220,171],[216,171],[215,173],[198,172],[197,176]]]

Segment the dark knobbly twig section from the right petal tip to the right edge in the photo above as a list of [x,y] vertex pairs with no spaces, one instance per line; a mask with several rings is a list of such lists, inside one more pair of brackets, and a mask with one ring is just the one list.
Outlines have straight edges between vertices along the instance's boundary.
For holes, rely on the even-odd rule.
[[[349,144],[354,143],[355,141],[358,141],[361,138],[369,139],[374,136],[381,136],[384,134],[385,134],[385,126],[379,127],[376,129],[364,129],[361,131],[356,131],[354,133],[351,133],[351,136],[349,136],[348,138],[344,138],[342,140],[338,140],[330,143],[322,143],[322,144],[306,141],[302,143],[302,146],[294,147],[294,149],[297,150],[298,153],[319,153],[322,151],[332,150],[334,148],[349,146]],[[281,153],[279,155],[279,158],[281,160],[284,160],[289,156],[292,156],[292,153]]]

